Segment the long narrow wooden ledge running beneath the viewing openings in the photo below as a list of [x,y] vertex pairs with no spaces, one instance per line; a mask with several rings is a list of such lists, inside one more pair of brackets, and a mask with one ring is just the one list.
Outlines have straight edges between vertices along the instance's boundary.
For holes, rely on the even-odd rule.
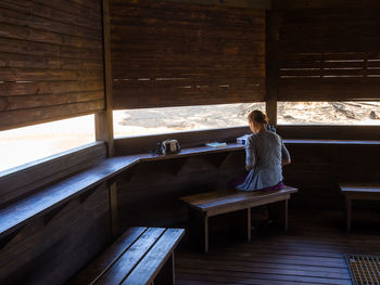
[[[331,140],[283,140],[286,144],[362,144],[380,145],[380,141],[331,141]],[[126,171],[140,161],[154,161],[164,159],[186,158],[198,155],[215,153],[231,153],[243,151],[244,145],[229,143],[225,147],[199,146],[183,148],[179,154],[152,155],[137,154],[117,156],[104,159],[101,164],[68,179],[60,181],[45,190],[30,195],[0,210],[0,238],[5,237],[12,231],[20,229],[31,218],[45,215],[54,208],[59,208],[67,200],[80,196],[84,192],[109,181],[117,174]],[[73,187],[73,185],[75,185]]]

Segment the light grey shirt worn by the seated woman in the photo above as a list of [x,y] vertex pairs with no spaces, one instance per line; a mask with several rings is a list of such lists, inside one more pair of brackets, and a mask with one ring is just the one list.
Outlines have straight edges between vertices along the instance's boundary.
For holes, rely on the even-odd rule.
[[237,189],[261,190],[282,181],[282,160],[290,159],[290,154],[280,135],[271,131],[253,133],[246,140],[245,155],[245,165],[251,170]]

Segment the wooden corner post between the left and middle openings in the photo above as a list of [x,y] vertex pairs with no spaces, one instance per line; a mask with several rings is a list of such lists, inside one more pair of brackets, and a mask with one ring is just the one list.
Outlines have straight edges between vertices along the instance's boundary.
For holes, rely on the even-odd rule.
[[[104,59],[104,100],[105,108],[96,114],[96,138],[107,145],[107,156],[114,156],[113,109],[112,109],[112,69],[111,69],[111,39],[110,39],[110,3],[102,0],[103,9],[103,59]],[[117,193],[116,184],[109,185],[111,232],[117,235]]]

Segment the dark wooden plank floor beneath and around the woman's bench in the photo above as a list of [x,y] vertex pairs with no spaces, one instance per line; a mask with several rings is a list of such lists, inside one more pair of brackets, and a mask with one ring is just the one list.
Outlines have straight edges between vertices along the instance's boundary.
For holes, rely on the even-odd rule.
[[[379,212],[371,213],[379,217]],[[354,219],[346,234],[340,211],[291,216],[290,231],[266,224],[253,231],[251,243],[215,238],[211,251],[176,254],[177,284],[352,284],[346,252],[380,252],[380,218]],[[227,236],[227,235],[226,235]],[[226,239],[226,241],[218,241]],[[229,238],[230,239],[230,238]]]

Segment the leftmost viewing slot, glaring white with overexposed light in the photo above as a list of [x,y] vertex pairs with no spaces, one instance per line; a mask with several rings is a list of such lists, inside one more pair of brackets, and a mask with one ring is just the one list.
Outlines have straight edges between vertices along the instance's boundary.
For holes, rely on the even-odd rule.
[[72,150],[94,140],[94,115],[0,131],[0,171]]

